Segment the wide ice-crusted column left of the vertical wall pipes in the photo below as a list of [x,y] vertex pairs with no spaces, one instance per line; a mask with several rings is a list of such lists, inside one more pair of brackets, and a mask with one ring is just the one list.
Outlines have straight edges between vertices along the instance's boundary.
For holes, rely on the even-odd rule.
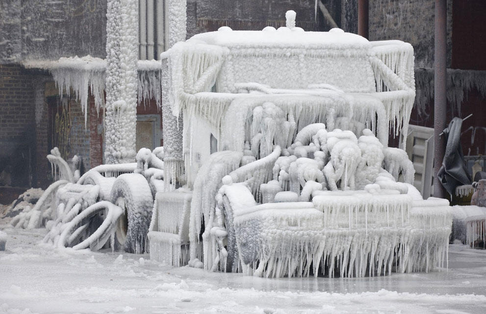
[[105,163],[135,160],[138,0],[108,0]]

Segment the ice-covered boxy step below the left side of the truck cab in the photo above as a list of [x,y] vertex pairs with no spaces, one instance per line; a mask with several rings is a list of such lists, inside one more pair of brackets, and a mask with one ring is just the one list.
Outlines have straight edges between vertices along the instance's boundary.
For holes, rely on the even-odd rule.
[[179,267],[189,262],[189,214],[192,193],[155,194],[149,227],[150,259]]

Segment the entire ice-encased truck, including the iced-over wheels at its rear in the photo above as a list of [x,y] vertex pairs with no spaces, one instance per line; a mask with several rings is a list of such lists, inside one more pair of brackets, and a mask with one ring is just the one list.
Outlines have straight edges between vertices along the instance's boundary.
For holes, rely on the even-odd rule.
[[174,266],[268,277],[443,266],[449,203],[409,184],[406,141],[388,147],[407,134],[413,48],[286,18],[164,52],[163,151],[60,188],[46,241],[98,249],[111,236]]

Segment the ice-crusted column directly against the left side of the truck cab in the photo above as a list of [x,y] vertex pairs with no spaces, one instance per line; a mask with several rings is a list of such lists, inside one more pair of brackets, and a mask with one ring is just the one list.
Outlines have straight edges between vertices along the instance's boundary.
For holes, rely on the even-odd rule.
[[[186,39],[186,0],[166,0],[168,31],[166,49]],[[172,114],[169,97],[169,70],[167,59],[162,59],[162,125],[164,137],[164,182],[166,190],[173,190],[183,172],[182,160],[182,116]]]

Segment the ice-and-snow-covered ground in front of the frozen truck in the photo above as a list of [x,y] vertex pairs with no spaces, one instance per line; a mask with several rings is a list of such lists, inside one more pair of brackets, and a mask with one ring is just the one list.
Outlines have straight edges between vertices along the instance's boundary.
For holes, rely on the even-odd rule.
[[148,255],[58,250],[10,228],[3,313],[486,313],[486,251],[451,245],[449,270],[359,279],[262,279],[172,268]]

